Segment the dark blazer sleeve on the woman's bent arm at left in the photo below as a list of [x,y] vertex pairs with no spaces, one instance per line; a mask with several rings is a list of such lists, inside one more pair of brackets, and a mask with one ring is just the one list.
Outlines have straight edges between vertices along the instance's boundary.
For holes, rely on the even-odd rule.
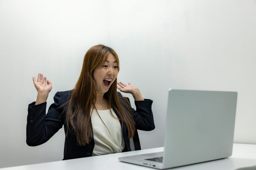
[[54,103],[46,113],[46,102],[35,105],[36,102],[28,105],[26,143],[29,146],[37,146],[48,141],[59,129],[62,128],[62,110],[59,109],[61,93],[57,92],[53,97]]

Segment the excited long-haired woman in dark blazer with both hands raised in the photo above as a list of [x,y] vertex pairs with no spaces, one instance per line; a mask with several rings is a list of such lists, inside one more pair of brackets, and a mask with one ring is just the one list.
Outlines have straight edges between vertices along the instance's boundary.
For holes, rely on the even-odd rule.
[[[93,46],[84,56],[75,88],[57,92],[46,115],[52,84],[41,73],[37,81],[33,77],[38,93],[36,102],[28,105],[27,144],[43,144],[64,125],[64,159],[131,151],[129,138],[135,128],[147,131],[155,128],[153,101],[144,100],[136,86],[117,83],[118,71],[116,52],[104,45]],[[117,88],[132,94],[136,110]]]

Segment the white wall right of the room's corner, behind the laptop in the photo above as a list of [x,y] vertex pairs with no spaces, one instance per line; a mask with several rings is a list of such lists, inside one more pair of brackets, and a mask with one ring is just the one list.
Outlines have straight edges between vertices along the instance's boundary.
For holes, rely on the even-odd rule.
[[237,91],[234,141],[256,144],[255,0],[110,4],[109,40],[125,63],[119,80],[154,100],[156,129],[140,132],[142,148],[163,146],[169,88]]

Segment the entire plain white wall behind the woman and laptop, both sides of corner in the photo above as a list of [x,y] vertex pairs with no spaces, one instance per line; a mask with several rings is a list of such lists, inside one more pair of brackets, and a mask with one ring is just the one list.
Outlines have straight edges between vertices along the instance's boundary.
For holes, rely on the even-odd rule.
[[32,77],[52,82],[49,107],[99,43],[119,55],[118,80],[154,100],[156,129],[139,132],[142,149],[163,146],[169,88],[237,91],[234,141],[256,144],[255,8],[255,0],[0,1],[0,167],[62,159],[63,129],[26,145]]

